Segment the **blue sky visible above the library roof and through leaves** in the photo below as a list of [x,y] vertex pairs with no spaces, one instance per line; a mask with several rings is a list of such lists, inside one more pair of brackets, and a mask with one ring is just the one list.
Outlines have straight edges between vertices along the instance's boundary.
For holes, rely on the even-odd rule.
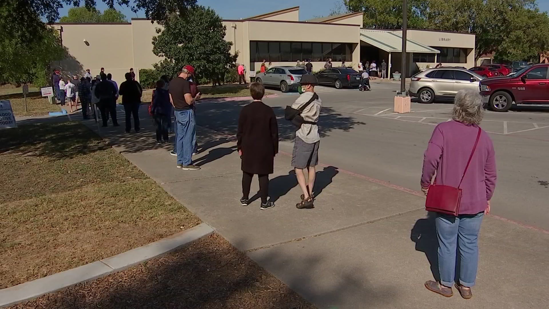
[[[104,10],[107,5],[102,0],[97,1],[97,8]],[[330,10],[341,0],[198,0],[198,4],[211,7],[223,19],[240,19],[253,15],[273,12],[290,7],[300,6],[299,19],[306,20],[315,16],[326,16]],[[83,3],[83,1],[82,1]],[[542,11],[549,10],[549,0],[537,0],[537,4]],[[70,7],[64,7],[59,10],[60,16],[66,15]],[[117,7],[129,19],[133,17],[145,17],[143,12],[137,15],[127,7]]]

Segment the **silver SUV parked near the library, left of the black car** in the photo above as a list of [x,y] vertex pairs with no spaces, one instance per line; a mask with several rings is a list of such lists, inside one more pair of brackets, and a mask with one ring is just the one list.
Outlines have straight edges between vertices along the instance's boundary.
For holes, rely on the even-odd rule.
[[297,89],[301,75],[307,71],[298,67],[272,67],[265,73],[257,73],[255,81],[265,86],[279,87],[280,91],[288,92]]

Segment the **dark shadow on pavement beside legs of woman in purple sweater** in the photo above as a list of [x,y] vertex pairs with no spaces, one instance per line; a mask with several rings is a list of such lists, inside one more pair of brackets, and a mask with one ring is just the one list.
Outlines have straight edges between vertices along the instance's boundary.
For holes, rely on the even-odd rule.
[[[435,218],[436,213],[428,212],[427,218],[417,220],[410,233],[410,240],[416,243],[416,251],[425,253],[425,257],[427,257],[431,266],[433,278],[439,281],[439,258],[437,253],[439,243],[436,239]],[[457,267],[456,271],[458,271]]]

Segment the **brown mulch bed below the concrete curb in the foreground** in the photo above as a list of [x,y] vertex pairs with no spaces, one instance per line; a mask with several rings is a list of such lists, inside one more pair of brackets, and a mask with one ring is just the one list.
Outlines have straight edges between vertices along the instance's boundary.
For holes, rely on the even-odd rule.
[[315,307],[214,234],[181,251],[11,308]]

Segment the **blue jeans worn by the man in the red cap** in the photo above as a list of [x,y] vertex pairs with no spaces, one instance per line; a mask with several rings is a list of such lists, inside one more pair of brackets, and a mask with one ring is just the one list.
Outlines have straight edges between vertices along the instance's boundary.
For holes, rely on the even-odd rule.
[[175,111],[177,164],[191,165],[193,159],[194,136],[196,127],[194,111]]

